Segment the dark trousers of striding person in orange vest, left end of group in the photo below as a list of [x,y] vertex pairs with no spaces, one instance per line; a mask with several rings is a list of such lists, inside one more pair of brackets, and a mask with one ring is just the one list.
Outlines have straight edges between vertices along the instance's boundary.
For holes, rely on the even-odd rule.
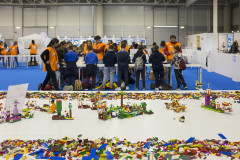
[[46,65],[46,69],[47,69],[47,76],[46,76],[45,80],[43,81],[43,85],[42,85],[41,89],[44,90],[46,85],[48,84],[48,82],[51,79],[55,90],[60,90],[59,86],[58,86],[58,83],[57,83],[56,73],[55,73],[55,71],[53,71],[51,69],[50,64]]

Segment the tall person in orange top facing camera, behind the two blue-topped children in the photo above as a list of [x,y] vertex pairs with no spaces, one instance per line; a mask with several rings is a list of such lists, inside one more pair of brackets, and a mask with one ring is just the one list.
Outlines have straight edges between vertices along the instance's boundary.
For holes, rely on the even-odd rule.
[[[95,36],[94,40],[95,43],[92,46],[93,52],[97,53],[98,64],[103,64],[103,56],[105,54],[106,44],[101,42],[100,36]],[[103,68],[98,68],[97,78],[98,78],[97,84],[100,85],[103,81]]]

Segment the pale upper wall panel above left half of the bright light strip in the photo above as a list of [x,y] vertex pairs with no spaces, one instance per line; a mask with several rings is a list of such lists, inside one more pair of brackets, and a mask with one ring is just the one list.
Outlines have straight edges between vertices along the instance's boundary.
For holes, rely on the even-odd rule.
[[155,26],[166,26],[166,15],[167,11],[165,7],[154,8],[154,25]]

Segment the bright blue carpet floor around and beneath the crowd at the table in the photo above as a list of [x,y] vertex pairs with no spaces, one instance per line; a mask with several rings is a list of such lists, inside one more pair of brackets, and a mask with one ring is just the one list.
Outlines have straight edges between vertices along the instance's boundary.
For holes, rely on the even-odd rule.
[[[148,69],[149,71],[149,69]],[[175,89],[177,86],[176,79],[173,74],[173,88]],[[29,83],[28,90],[37,90],[38,84],[42,83],[46,73],[42,72],[42,69],[38,66],[26,68],[23,65],[20,67],[7,69],[2,67],[0,64],[0,90],[7,90],[9,85],[16,85],[22,83]],[[196,68],[187,68],[183,72],[183,76],[188,86],[188,90],[196,90],[195,80],[197,78],[197,69]],[[234,82],[231,78],[222,76],[217,73],[207,72],[203,69],[202,72],[202,80],[203,80],[203,89],[206,89],[208,83],[210,83],[210,87],[213,90],[240,90],[240,82]],[[115,76],[115,81],[117,80],[117,76]],[[154,81],[150,81],[147,75],[146,79],[146,90],[150,90],[150,84],[154,83]],[[135,84],[129,85],[130,90],[135,90]],[[140,81],[140,90],[141,81]]]

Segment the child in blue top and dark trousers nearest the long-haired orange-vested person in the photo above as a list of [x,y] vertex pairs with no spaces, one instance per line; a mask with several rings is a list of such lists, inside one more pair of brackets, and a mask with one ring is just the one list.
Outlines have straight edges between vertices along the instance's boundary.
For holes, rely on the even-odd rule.
[[73,46],[68,47],[68,53],[65,56],[65,62],[67,64],[65,69],[65,78],[67,80],[68,86],[75,85],[75,79],[77,76],[77,65],[76,62],[78,61],[77,54],[73,51]]

